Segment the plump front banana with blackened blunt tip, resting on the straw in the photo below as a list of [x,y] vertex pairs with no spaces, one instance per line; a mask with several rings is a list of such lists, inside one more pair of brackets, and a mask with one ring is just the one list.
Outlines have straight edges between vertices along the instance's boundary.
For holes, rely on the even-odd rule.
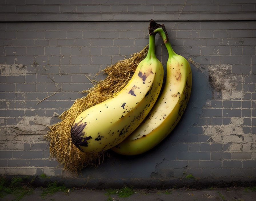
[[123,141],[155,104],[163,74],[163,66],[155,56],[155,33],[152,33],[147,56],[127,85],[112,98],[77,116],[71,126],[73,144],[83,152],[100,152]]

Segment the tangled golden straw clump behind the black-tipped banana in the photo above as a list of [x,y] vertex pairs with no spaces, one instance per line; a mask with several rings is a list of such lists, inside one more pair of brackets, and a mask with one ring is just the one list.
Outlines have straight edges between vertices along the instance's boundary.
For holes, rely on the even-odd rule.
[[111,98],[123,89],[139,62],[145,58],[147,50],[148,46],[128,59],[106,67],[103,72],[107,74],[107,77],[91,89],[83,91],[82,93],[87,93],[87,96],[75,100],[71,108],[59,116],[61,122],[49,126],[49,131],[44,138],[50,141],[50,158],[56,158],[63,170],[77,174],[86,166],[97,167],[103,161],[104,156],[107,156],[105,151],[90,153],[80,151],[71,142],[71,124],[81,112]]

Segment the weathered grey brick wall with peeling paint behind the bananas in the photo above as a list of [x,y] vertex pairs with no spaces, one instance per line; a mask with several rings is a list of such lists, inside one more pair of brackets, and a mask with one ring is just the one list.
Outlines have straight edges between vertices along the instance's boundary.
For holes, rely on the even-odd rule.
[[[85,75],[93,77],[99,70],[148,44],[149,21],[138,21],[139,14],[133,13],[133,21],[71,18],[73,21],[39,22],[33,16],[42,17],[38,13],[45,7],[30,5],[20,9],[21,5],[10,5],[16,1],[3,2],[6,5],[1,7],[0,23],[0,174],[45,173],[69,178],[71,175],[62,172],[61,166],[56,167],[55,159],[49,160],[49,142],[43,139],[47,125],[57,122],[57,116],[83,96],[79,91],[93,86]],[[233,3],[232,13],[251,16],[255,12],[254,4]],[[216,13],[224,14],[222,4],[205,5],[199,1],[187,4],[183,8],[188,9],[187,14],[193,13],[195,6],[209,9],[217,6]],[[160,20],[161,9],[175,7],[177,14],[183,5],[145,4],[141,9],[143,6],[159,9],[154,10],[153,17]],[[36,12],[28,9],[33,6]],[[71,8],[70,5],[47,6],[53,10],[58,7],[58,16],[70,14],[61,11]],[[119,2],[117,7],[128,8],[126,13],[130,15],[132,7],[122,6]],[[114,5],[100,5],[101,9],[108,7]],[[79,4],[75,8],[78,11]],[[11,21],[7,16],[27,22],[7,22]],[[22,20],[17,20],[17,16],[23,16]],[[149,15],[147,20],[153,17]],[[223,180],[256,178],[255,19],[217,21],[216,17],[215,21],[179,21],[177,16],[175,19],[165,17],[157,23],[165,24],[174,51],[193,61],[191,98],[180,123],[153,150],[134,157],[110,152],[111,158],[97,169],[85,168],[77,182],[138,183],[138,179],[166,181],[189,174]],[[156,45],[157,57],[164,65],[167,51],[159,36]],[[52,96],[45,99],[49,95]]]

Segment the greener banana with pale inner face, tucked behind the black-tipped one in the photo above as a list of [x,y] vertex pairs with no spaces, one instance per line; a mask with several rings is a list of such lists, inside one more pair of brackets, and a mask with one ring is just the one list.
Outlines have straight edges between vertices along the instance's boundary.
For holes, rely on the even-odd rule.
[[167,48],[166,81],[163,91],[147,118],[123,142],[112,150],[123,155],[144,153],[161,142],[179,122],[191,93],[191,68],[188,61],[177,55],[169,42],[164,25],[154,33],[159,33]]

